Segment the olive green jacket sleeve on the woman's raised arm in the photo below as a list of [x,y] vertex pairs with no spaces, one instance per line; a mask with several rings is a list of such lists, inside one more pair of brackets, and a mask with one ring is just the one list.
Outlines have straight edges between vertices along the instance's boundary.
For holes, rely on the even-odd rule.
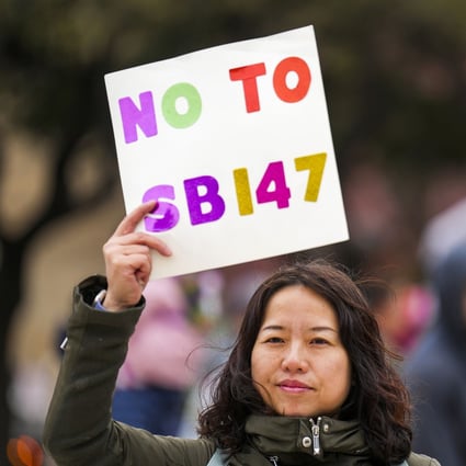
[[44,425],[57,466],[205,466],[215,447],[204,440],[152,435],[112,420],[115,380],[144,307],[105,312],[91,307],[106,286],[94,276],[75,288],[73,311]]

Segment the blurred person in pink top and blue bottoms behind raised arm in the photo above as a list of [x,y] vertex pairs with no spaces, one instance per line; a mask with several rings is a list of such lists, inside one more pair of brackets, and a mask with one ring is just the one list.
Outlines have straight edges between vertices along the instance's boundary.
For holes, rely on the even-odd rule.
[[203,363],[202,332],[177,279],[151,281],[146,310],[128,342],[113,398],[113,417],[162,435],[177,435],[187,394]]

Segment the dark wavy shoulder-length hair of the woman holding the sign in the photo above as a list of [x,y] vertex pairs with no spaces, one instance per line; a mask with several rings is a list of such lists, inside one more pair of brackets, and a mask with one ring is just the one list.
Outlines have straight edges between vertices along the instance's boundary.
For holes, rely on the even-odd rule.
[[412,439],[409,394],[394,365],[399,357],[385,346],[366,298],[370,283],[322,259],[284,265],[265,280],[251,297],[230,355],[213,380],[212,404],[198,418],[200,435],[238,452],[247,441],[248,416],[268,412],[252,383],[251,353],[270,298],[285,286],[299,284],[325,297],[337,312],[354,383],[340,419],[360,421],[376,464],[406,459]]

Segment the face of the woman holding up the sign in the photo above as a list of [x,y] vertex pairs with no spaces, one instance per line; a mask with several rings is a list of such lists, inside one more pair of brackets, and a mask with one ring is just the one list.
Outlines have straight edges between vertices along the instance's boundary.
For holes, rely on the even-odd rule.
[[332,416],[351,386],[351,363],[330,303],[303,285],[276,292],[251,354],[264,402],[283,416]]

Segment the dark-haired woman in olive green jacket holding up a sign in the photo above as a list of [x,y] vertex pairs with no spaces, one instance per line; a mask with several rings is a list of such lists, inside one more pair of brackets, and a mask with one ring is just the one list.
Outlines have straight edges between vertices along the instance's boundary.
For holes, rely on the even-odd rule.
[[44,431],[58,466],[206,466],[217,448],[231,466],[439,465],[410,452],[408,395],[376,321],[359,286],[325,262],[285,268],[258,288],[200,416],[200,439],[112,421],[150,252],[171,253],[160,239],[134,232],[154,207],[136,208],[104,246],[107,282],[91,277],[75,291]]

